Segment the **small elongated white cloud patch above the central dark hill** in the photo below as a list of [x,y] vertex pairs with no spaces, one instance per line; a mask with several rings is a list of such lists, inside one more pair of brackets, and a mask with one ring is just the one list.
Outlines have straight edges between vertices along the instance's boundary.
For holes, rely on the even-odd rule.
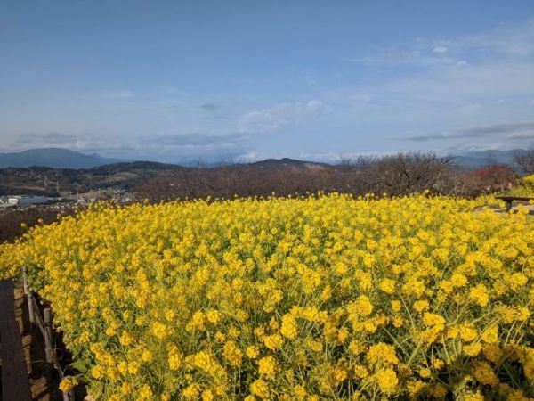
[[319,100],[311,100],[305,104],[280,103],[269,109],[247,112],[239,119],[238,128],[240,132],[270,132],[296,124],[306,117],[318,117],[332,110],[331,106]]

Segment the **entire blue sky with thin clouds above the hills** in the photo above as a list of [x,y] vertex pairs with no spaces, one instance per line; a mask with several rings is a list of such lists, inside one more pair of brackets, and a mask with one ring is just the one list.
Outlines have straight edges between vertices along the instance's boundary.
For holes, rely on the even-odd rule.
[[0,151],[180,162],[534,142],[534,2],[0,2]]

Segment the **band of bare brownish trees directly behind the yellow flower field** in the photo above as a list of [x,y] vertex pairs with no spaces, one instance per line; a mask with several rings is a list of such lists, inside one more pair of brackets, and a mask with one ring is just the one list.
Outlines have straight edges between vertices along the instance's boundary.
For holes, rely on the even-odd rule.
[[474,196],[498,191],[509,180],[506,167],[486,168],[476,174],[454,166],[450,157],[433,152],[343,158],[339,164],[287,163],[223,164],[219,167],[181,168],[142,184],[138,191],[151,201],[185,198],[277,196],[306,192],[343,192],[355,196],[404,195],[430,189],[437,193]]

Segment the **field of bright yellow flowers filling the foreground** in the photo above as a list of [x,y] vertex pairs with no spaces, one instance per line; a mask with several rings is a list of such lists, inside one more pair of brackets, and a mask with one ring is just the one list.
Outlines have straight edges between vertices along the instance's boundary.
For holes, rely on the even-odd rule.
[[534,397],[534,222],[484,200],[97,205],[0,246],[98,399]]

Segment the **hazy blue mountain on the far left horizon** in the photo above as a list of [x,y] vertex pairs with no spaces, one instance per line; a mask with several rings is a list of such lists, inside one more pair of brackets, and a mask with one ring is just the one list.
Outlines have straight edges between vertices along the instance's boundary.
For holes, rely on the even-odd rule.
[[28,168],[31,166],[48,168],[93,168],[120,161],[128,160],[108,159],[96,153],[85,154],[61,148],[42,148],[16,153],[0,153],[0,168]]

